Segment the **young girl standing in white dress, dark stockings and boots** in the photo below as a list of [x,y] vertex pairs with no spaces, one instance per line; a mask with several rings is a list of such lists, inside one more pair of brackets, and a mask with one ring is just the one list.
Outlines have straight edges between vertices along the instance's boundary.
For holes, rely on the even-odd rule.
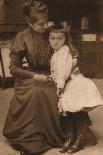
[[54,51],[51,77],[57,87],[59,113],[68,116],[67,140],[61,152],[71,154],[86,145],[86,124],[90,123],[87,112],[102,105],[103,101],[95,84],[80,72],[77,58],[72,58],[68,32],[62,24],[51,27],[49,42]]

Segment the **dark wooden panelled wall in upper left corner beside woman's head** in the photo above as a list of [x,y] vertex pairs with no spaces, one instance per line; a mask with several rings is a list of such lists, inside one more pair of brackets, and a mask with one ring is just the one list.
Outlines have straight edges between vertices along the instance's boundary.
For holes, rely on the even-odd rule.
[[17,32],[25,27],[24,0],[0,0],[0,32]]

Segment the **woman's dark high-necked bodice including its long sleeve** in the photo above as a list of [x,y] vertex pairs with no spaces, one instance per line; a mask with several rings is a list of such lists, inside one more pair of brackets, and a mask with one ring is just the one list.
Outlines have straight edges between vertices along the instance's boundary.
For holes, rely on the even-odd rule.
[[[22,68],[27,59],[28,70]],[[17,34],[11,48],[11,74],[19,78],[33,78],[35,71],[50,70],[51,53],[45,34],[32,32],[30,28]]]

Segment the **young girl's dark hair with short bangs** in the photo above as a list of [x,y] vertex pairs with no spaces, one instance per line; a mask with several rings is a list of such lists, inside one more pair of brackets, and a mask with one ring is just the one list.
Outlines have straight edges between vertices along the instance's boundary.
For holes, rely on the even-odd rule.
[[63,33],[66,38],[66,43],[69,42],[69,32],[68,29],[65,27],[63,22],[54,22],[54,24],[49,28],[49,34],[55,32],[55,33]]

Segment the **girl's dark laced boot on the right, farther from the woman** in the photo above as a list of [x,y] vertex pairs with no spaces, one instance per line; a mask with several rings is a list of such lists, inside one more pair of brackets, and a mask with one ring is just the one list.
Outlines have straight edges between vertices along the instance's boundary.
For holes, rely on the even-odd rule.
[[78,152],[83,149],[83,138],[82,135],[80,135],[76,142],[67,150],[67,153],[73,154],[75,152]]

